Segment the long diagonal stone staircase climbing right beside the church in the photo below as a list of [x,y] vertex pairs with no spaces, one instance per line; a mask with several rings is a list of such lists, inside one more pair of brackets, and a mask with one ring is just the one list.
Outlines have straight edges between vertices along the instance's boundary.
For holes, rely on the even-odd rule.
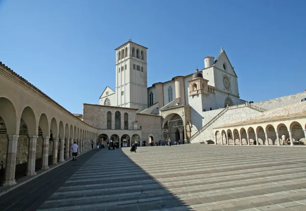
[[260,108],[258,106],[254,106],[249,103],[245,104],[239,104],[239,105],[234,105],[234,106],[227,106],[225,109],[223,109],[220,113],[218,113],[214,118],[212,118],[205,126],[203,126],[201,129],[199,129],[195,134],[193,134],[189,141],[191,142],[195,137],[197,137],[201,132],[205,131],[209,126],[211,126],[218,118],[220,118],[226,111],[231,110],[231,109],[237,109],[237,108],[243,108],[243,107],[249,107],[251,109],[257,110],[259,112],[265,112],[267,111],[266,109]]

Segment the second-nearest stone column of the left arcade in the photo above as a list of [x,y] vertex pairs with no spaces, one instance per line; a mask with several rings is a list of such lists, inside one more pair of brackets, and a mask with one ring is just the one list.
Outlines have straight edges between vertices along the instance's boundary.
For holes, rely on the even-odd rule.
[[36,175],[35,172],[35,161],[36,161],[36,141],[38,136],[29,136],[29,155],[28,155],[28,166],[27,176]]

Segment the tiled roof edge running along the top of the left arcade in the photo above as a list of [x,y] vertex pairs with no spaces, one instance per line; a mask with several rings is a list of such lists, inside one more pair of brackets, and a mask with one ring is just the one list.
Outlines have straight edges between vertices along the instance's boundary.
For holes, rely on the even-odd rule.
[[25,78],[21,77],[20,75],[18,75],[15,71],[13,71],[11,68],[9,68],[8,66],[6,66],[4,63],[0,62],[0,66],[2,66],[5,70],[7,70],[8,72],[10,72],[12,75],[16,76],[19,80],[21,80],[21,82],[25,83],[25,85],[28,85],[30,88],[33,88],[35,91],[37,91],[39,94],[41,94],[43,97],[47,98],[49,101],[51,101],[52,103],[54,103],[56,106],[59,106],[61,109],[63,109],[65,112],[67,112],[68,114],[71,114],[75,119],[78,119],[78,121],[81,121],[81,123],[92,127],[93,129],[97,129],[87,123],[85,123],[84,121],[82,121],[81,119],[79,119],[77,116],[73,115],[73,113],[71,113],[70,111],[68,111],[67,109],[65,109],[63,106],[61,106],[60,104],[58,104],[55,100],[53,100],[52,98],[50,98],[49,96],[47,96],[46,94],[44,94],[39,88],[37,88],[36,86],[34,86],[32,83],[30,83],[29,81],[27,81]]

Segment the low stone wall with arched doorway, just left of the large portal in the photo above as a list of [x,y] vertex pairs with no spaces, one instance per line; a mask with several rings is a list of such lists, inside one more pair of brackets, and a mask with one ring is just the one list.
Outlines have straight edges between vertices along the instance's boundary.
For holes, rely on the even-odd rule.
[[163,140],[161,116],[137,113],[136,120],[138,123],[138,128],[141,126],[141,141],[146,141],[146,143],[148,143],[148,136],[150,134],[152,134],[154,137],[154,143],[156,143],[156,141]]

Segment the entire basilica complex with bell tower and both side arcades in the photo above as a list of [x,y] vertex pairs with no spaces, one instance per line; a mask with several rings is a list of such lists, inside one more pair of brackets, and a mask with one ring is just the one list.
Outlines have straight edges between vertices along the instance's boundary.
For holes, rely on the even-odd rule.
[[[0,62],[0,183],[35,176],[109,140],[121,147],[163,145],[168,140],[218,145],[305,145],[306,92],[248,103],[221,47],[203,58],[204,68],[147,84],[148,48],[126,42],[115,49],[115,90],[72,114]],[[111,84],[110,84],[111,85]],[[288,137],[282,140],[281,137]]]

